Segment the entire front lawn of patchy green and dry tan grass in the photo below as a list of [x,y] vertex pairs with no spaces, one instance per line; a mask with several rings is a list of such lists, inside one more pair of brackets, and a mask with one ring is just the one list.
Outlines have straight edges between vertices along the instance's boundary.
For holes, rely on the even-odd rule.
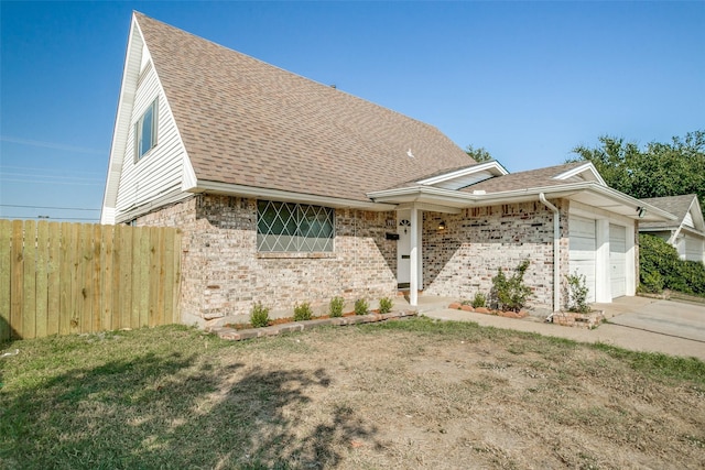
[[705,364],[427,319],[17,341],[2,468],[703,468]]

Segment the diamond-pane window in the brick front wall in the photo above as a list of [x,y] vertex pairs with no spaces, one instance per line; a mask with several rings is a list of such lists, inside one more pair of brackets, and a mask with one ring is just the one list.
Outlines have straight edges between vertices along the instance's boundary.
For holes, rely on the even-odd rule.
[[278,252],[333,251],[334,210],[305,204],[257,203],[257,249]]

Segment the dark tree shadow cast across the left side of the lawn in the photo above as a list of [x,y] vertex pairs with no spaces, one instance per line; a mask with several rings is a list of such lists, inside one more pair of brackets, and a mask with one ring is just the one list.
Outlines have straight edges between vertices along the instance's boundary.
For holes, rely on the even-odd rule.
[[0,393],[0,468],[329,468],[376,429],[327,373],[144,354]]

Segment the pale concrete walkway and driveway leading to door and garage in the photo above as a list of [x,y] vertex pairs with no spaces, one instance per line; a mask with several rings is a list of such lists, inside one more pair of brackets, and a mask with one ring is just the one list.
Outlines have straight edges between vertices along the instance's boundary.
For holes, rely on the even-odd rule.
[[[597,304],[607,324],[588,330],[549,324],[541,317],[503,318],[446,308],[454,298],[419,297],[419,313],[430,318],[475,321],[482,326],[536,332],[582,342],[604,342],[636,351],[694,357],[705,361],[705,305],[621,297],[611,304]],[[403,300],[401,300],[403,302]]]

